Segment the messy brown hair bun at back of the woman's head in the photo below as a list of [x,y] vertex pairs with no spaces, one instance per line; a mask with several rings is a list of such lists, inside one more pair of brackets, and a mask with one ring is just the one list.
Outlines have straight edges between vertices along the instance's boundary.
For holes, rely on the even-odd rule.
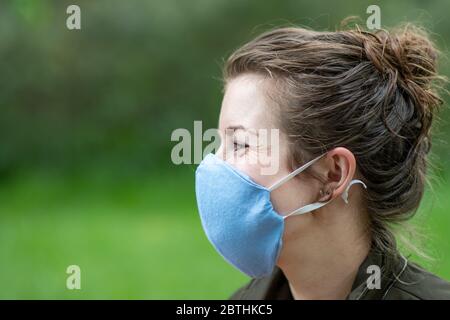
[[364,55],[391,83],[391,88],[401,88],[405,98],[416,109],[416,126],[428,135],[431,119],[443,101],[434,83],[445,81],[437,73],[438,51],[422,29],[406,25],[390,32],[371,33],[359,31]]

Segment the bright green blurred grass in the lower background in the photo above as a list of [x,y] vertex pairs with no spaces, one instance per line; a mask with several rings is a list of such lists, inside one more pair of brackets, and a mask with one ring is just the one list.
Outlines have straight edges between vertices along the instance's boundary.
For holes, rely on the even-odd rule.
[[[450,185],[419,212],[450,279]],[[113,180],[101,174],[18,177],[0,188],[1,299],[222,299],[247,278],[201,229],[190,170]],[[81,268],[81,290],[66,268]]]

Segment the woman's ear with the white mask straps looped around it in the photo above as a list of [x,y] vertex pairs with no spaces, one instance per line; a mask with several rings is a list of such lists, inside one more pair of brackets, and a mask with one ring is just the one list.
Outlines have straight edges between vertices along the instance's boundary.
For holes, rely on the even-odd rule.
[[356,160],[353,153],[343,147],[330,150],[325,159],[326,180],[319,191],[319,201],[324,202],[342,195],[353,179]]

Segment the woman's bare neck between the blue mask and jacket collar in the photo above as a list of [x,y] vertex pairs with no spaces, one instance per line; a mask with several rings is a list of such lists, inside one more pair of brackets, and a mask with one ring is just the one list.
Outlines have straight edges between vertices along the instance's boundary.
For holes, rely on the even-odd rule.
[[370,236],[342,220],[341,228],[324,223],[309,230],[310,239],[303,235],[285,242],[278,265],[295,299],[345,299],[350,293]]

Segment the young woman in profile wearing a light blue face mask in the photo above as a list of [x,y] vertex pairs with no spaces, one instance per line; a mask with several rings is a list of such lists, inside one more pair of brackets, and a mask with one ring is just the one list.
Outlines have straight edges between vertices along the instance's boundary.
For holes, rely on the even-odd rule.
[[[281,28],[231,55],[222,144],[196,194],[209,240],[253,278],[233,299],[450,299],[390,228],[424,193],[436,59],[411,26]],[[260,129],[279,129],[277,144],[250,139]],[[274,174],[249,161],[263,153]]]

